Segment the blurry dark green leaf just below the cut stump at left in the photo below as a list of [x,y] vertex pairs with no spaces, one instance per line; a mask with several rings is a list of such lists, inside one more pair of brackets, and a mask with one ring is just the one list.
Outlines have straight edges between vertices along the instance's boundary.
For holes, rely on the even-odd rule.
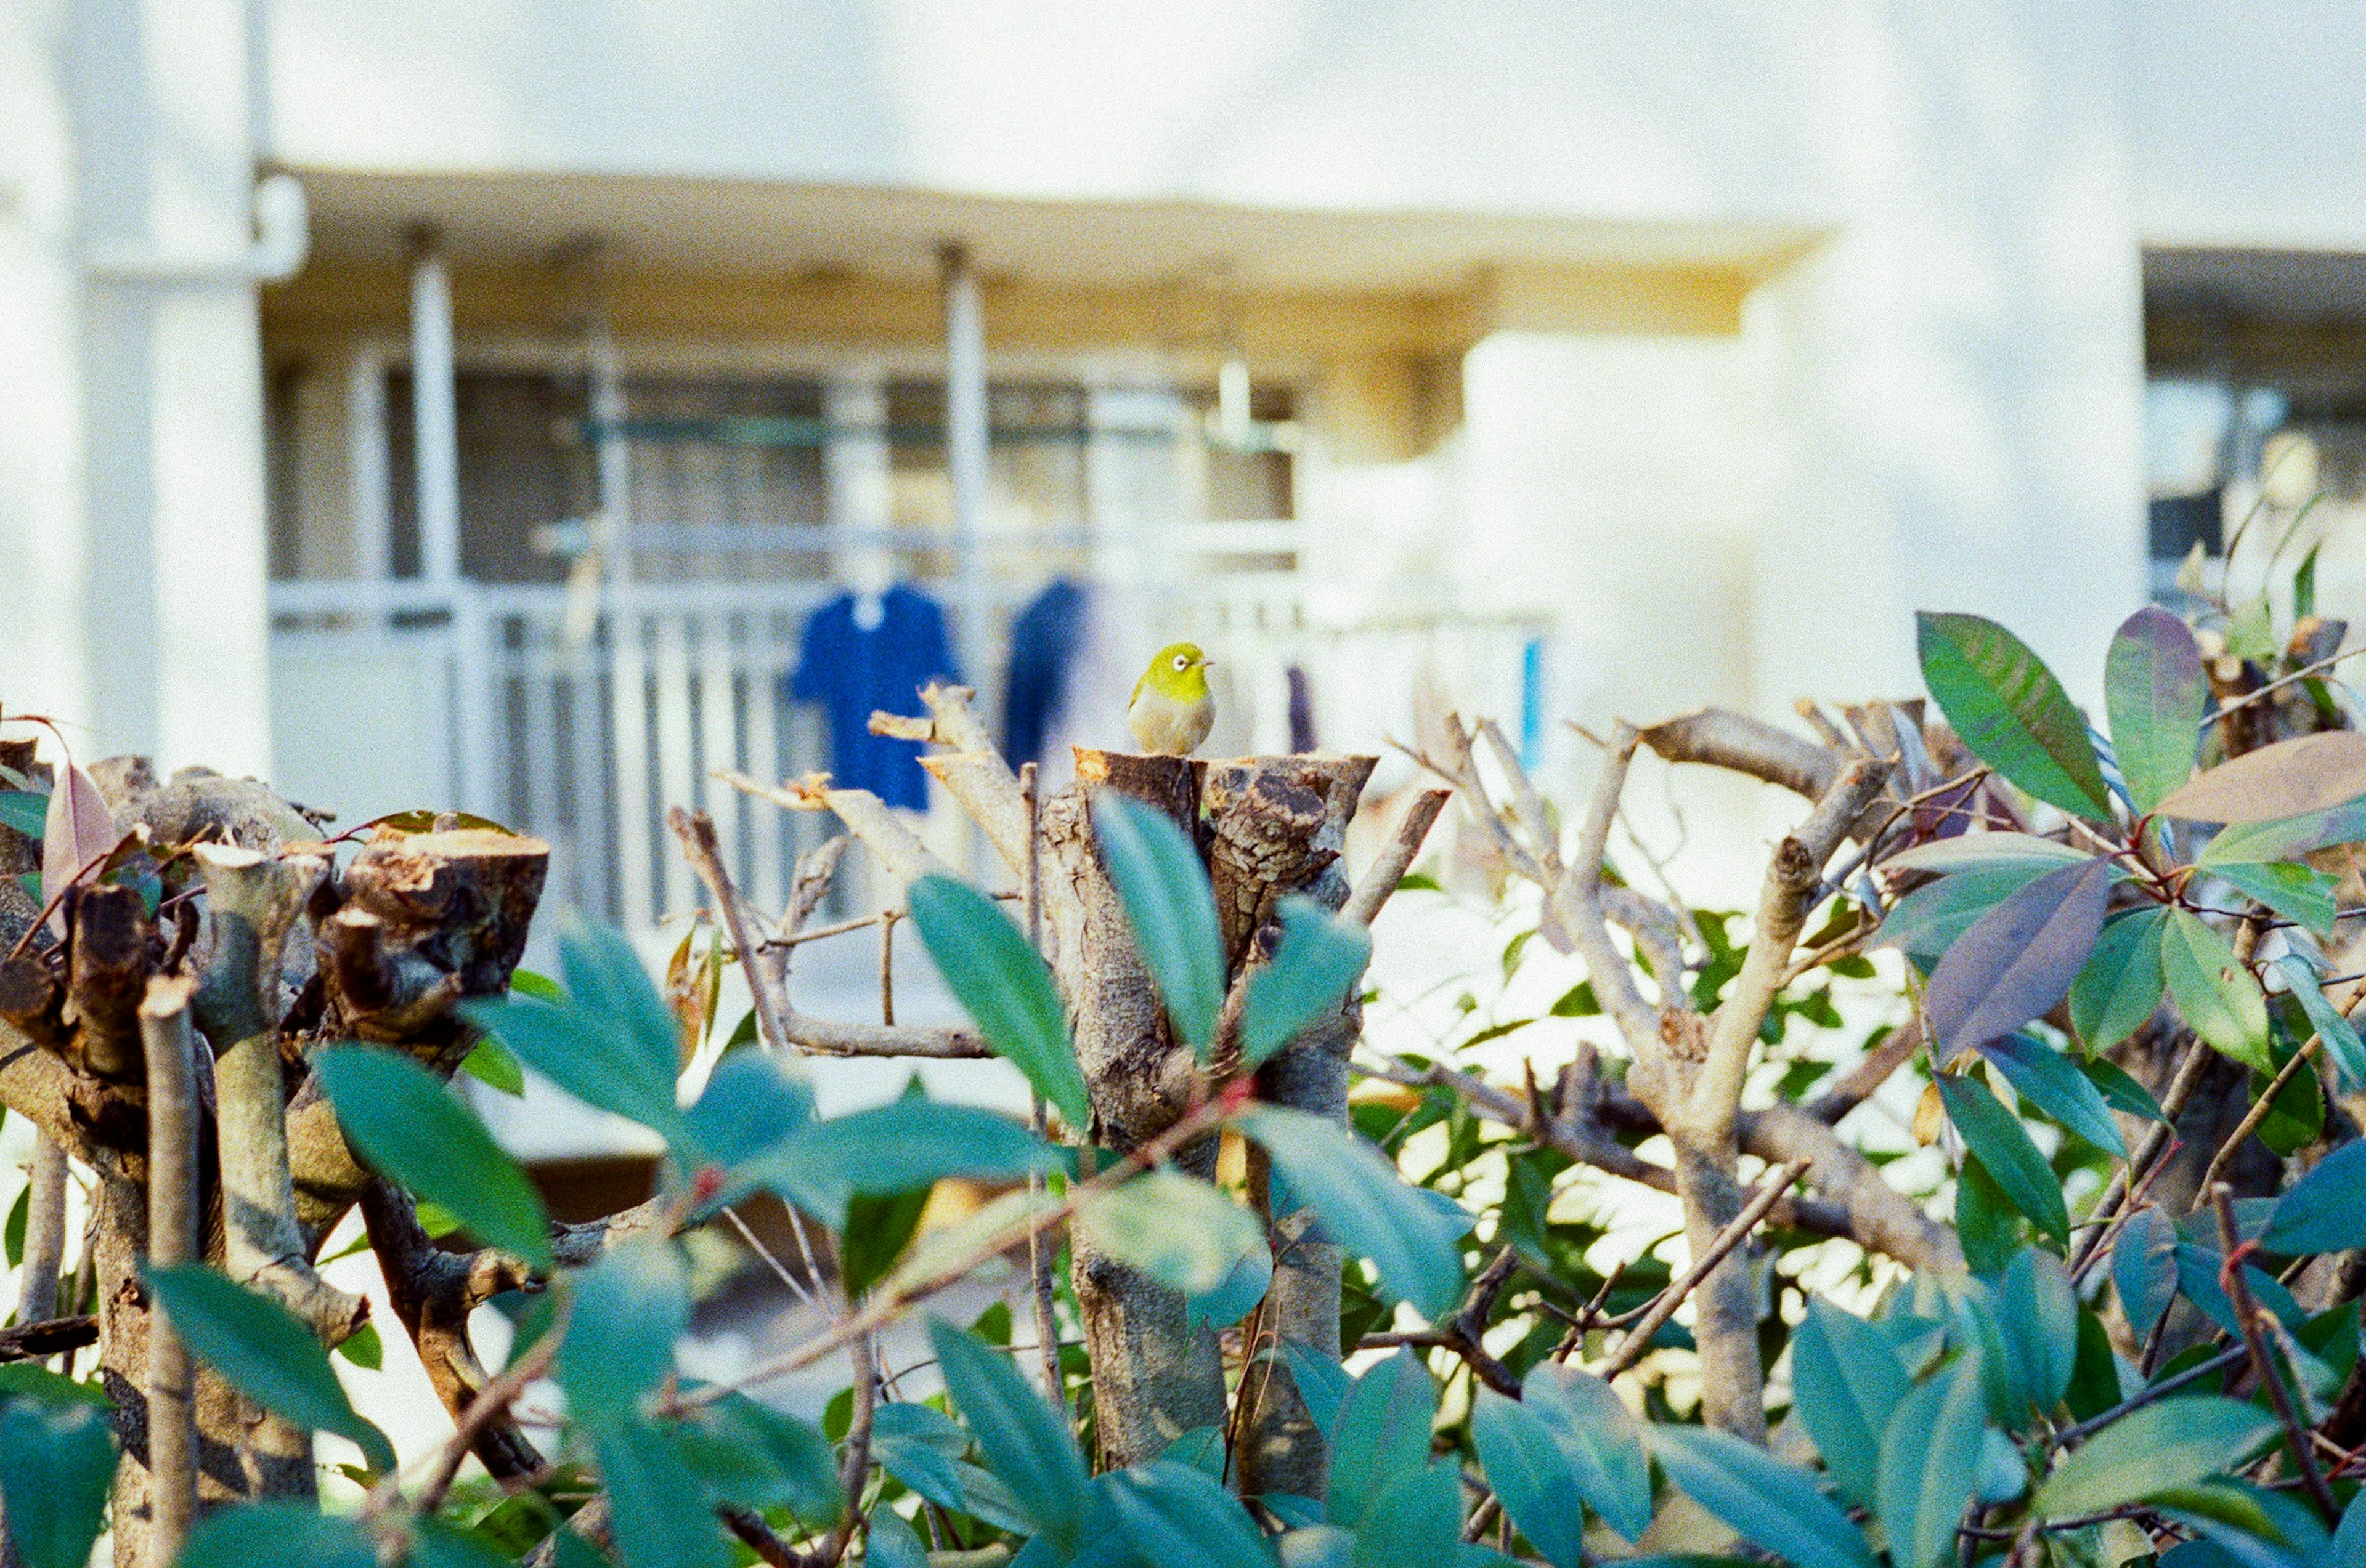
[[468,1232],[549,1272],[551,1216],[492,1133],[435,1074],[393,1050],[341,1045],[312,1067],[355,1154]]

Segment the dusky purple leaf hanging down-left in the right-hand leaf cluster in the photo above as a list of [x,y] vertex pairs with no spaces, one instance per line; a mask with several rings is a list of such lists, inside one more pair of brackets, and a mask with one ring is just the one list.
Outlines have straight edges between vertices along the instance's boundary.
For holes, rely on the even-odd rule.
[[1957,937],[1924,993],[1933,1055],[1985,1045],[2066,998],[2103,934],[2108,894],[2110,861],[2063,866]]

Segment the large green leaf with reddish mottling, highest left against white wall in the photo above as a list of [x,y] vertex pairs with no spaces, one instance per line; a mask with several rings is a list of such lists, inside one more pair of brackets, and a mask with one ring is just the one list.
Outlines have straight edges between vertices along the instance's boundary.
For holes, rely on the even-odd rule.
[[2028,643],[1980,615],[1914,617],[1924,683],[1971,754],[2030,795],[2110,821],[2087,721]]

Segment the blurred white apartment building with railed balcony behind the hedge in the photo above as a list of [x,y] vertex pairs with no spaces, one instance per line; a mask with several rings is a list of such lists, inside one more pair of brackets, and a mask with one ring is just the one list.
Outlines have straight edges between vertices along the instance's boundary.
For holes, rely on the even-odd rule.
[[2084,683],[2148,478],[2359,487],[2361,90],[2328,0],[17,0],[0,702],[646,920],[660,802],[826,764],[864,542],[989,702],[1055,570],[1237,650],[1235,747],[1294,660],[1566,764],[1907,691],[1924,605]]

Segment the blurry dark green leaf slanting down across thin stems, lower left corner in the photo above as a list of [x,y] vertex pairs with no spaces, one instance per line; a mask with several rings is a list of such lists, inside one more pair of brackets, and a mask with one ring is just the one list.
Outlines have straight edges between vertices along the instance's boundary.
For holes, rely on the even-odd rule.
[[348,1438],[381,1476],[395,1469],[386,1433],[355,1414],[329,1353],[293,1313],[196,1263],[140,1277],[182,1343],[239,1393],[296,1426]]

